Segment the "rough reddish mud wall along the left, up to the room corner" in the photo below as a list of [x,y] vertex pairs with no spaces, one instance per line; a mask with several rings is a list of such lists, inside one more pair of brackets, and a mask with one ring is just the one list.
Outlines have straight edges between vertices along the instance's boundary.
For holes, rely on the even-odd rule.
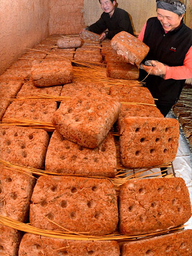
[[0,73],[48,36],[49,0],[0,1]]

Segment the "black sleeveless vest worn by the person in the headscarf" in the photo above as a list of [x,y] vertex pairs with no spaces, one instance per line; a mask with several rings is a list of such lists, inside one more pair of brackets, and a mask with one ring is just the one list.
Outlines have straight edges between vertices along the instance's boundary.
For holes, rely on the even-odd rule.
[[[165,34],[165,31],[156,17],[147,21],[143,42],[150,50],[146,60],[160,61],[168,66],[182,66],[185,55],[192,46],[192,30],[183,24]],[[144,61],[142,61],[144,63]],[[147,73],[140,70],[140,80]],[[160,105],[174,105],[178,100],[185,80],[164,80],[160,76],[149,75],[144,82],[154,98]]]

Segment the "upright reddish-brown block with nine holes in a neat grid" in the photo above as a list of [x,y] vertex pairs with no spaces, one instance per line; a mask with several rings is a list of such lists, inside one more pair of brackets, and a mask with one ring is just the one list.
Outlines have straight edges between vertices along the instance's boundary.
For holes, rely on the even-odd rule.
[[167,164],[177,154],[179,122],[173,118],[127,117],[121,122],[120,159],[125,167]]

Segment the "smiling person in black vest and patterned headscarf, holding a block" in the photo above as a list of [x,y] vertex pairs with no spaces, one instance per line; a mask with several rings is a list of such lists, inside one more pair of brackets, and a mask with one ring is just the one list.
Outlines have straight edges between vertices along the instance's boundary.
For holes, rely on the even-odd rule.
[[192,30],[183,23],[182,0],[156,0],[157,17],[149,18],[139,39],[150,50],[140,65],[140,79],[166,116],[177,102],[185,80],[192,78]]

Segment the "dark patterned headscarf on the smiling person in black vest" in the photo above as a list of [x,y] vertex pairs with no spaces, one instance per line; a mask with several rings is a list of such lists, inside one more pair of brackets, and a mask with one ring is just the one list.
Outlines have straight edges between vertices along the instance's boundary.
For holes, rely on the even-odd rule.
[[186,12],[186,6],[178,0],[156,0],[156,8],[182,15]]

